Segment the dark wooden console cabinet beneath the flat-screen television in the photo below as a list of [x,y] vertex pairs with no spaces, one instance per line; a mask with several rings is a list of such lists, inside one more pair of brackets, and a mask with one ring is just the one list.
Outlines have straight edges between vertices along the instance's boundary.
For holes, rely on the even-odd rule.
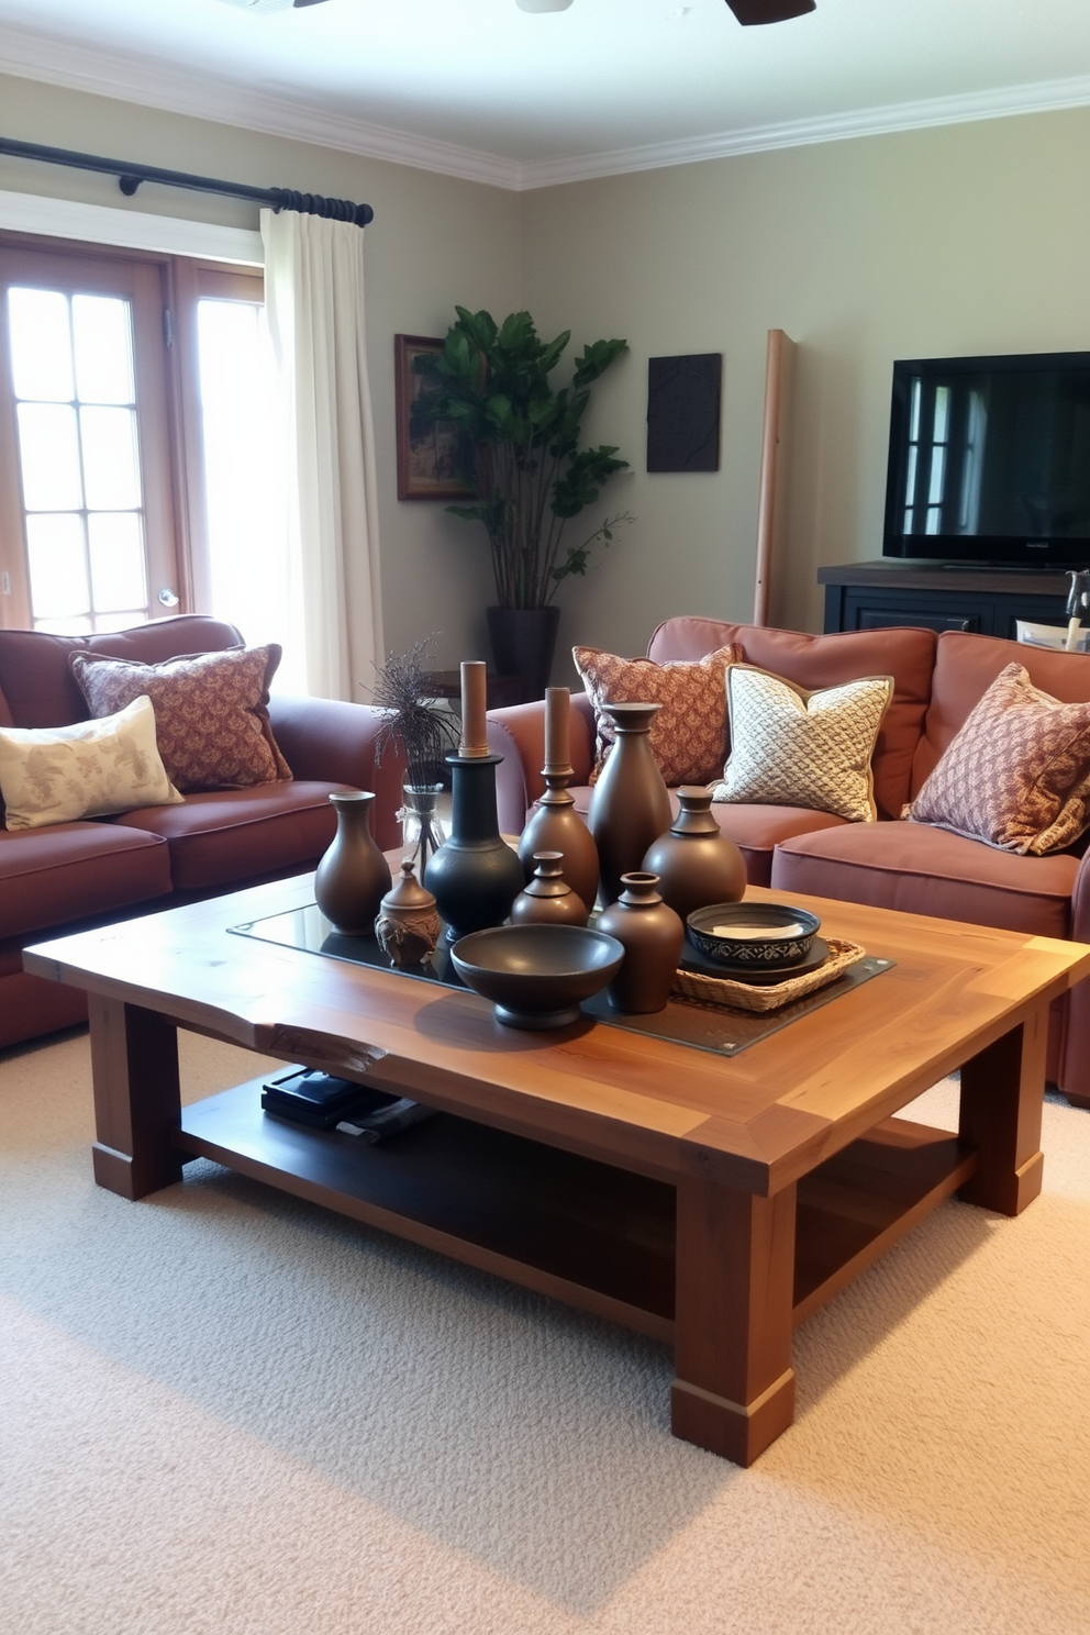
[[825,587],[825,631],[923,625],[1008,641],[1020,618],[1065,625],[1070,589],[1067,574],[897,561],[819,567],[817,582]]

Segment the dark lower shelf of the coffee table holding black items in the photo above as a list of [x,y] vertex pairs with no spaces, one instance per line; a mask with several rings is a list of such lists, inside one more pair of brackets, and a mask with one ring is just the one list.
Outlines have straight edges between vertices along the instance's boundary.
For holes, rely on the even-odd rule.
[[[449,1113],[368,1146],[261,1110],[252,1079],[181,1110],[175,1146],[539,1293],[673,1341],[677,1189]],[[976,1154],[876,1125],[797,1184],[794,1311],[825,1300],[951,1197]]]

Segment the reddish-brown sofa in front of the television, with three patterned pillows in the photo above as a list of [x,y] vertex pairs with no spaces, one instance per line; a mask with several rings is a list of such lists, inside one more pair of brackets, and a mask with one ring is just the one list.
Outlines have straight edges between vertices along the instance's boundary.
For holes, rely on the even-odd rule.
[[[721,827],[737,842],[755,885],[812,893],[851,903],[936,914],[976,925],[1090,942],[1090,863],[1085,840],[1074,852],[1016,857],[979,840],[899,822],[976,701],[1003,665],[1016,659],[1036,687],[1064,701],[1090,700],[1090,654],[1023,647],[992,636],[928,629],[799,631],[672,618],[660,625],[647,657],[699,659],[737,641],[750,664],[807,688],[833,687],[860,675],[892,675],[894,698],[874,750],[874,800],[879,821],[845,822],[796,806],[714,804]],[[572,695],[572,793],[580,813],[590,806],[593,710]],[[544,790],[544,705],[516,705],[489,714],[497,772],[500,826],[518,832]],[[1090,981],[1052,1010],[1049,1079],[1090,1107]]]

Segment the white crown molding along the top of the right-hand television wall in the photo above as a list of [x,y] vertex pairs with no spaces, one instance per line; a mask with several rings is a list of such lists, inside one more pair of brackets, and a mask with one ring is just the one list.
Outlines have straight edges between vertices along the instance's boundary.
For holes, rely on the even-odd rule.
[[523,165],[520,185],[554,188],[565,181],[593,181],[598,177],[663,170],[668,165],[693,165],[706,159],[766,154],[780,147],[811,147],[817,142],[847,142],[855,136],[887,136],[894,131],[923,131],[941,124],[969,124],[976,119],[1007,119],[1023,113],[1054,113],[1061,108],[1083,108],[1088,103],[1090,77],[1043,80],[997,92],[930,96],[923,101],[891,103],[886,108],[822,114],[817,119],[788,119],[783,124],[757,124],[744,131],[683,137],[677,142],[619,147],[575,159],[546,159]]

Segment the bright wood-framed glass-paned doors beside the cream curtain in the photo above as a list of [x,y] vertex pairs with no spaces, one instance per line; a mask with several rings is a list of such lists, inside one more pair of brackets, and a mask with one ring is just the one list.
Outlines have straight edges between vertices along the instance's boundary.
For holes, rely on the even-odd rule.
[[260,271],[0,242],[0,625],[278,639],[261,334]]

